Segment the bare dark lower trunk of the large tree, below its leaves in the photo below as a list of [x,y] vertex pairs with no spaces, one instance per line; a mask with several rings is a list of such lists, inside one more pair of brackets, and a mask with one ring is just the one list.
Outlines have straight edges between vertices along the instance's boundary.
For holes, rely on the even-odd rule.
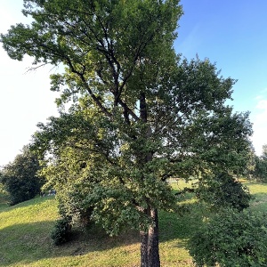
[[147,232],[141,231],[141,267],[159,267],[158,252],[158,210],[151,209],[150,216],[153,225]]

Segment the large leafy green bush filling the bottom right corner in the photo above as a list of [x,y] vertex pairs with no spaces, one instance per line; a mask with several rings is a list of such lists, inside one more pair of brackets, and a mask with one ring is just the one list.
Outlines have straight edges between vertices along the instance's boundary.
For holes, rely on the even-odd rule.
[[266,214],[224,209],[190,239],[190,255],[198,267],[266,266],[266,222]]

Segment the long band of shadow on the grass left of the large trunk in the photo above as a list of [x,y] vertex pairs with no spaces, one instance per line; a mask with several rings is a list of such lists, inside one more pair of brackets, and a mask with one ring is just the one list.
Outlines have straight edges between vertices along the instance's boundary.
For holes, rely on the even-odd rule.
[[0,230],[0,266],[13,266],[48,258],[85,255],[94,251],[109,250],[139,241],[136,231],[111,238],[100,229],[73,231],[70,241],[54,246],[50,237],[54,222],[13,224]]

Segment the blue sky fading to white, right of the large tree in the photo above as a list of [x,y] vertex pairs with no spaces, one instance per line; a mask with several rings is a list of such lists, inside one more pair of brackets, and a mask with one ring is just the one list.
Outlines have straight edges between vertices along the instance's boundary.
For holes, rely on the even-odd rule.
[[267,143],[267,1],[182,0],[175,50],[187,58],[198,54],[238,79],[231,105],[250,111],[257,154]]

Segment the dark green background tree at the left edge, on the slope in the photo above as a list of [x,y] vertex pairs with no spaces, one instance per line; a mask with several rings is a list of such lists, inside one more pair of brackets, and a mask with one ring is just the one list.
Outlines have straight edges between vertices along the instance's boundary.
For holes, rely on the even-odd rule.
[[44,184],[44,179],[37,175],[39,170],[38,158],[28,146],[23,148],[12,163],[4,166],[0,178],[4,190],[9,194],[11,205],[36,197]]

